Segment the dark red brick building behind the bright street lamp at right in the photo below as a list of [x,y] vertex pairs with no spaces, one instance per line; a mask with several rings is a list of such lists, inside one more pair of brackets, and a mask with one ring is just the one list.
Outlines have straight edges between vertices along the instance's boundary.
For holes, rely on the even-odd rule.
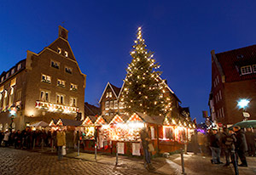
[[212,50],[212,90],[209,107],[212,121],[242,121],[239,99],[249,99],[249,119],[256,119],[256,45],[215,54]]

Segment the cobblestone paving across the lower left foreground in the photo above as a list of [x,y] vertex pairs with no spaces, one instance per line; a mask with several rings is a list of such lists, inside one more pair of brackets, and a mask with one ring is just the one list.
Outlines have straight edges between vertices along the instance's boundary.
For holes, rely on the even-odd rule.
[[56,155],[47,155],[26,150],[0,148],[0,174],[10,175],[61,175],[61,174],[157,174],[145,169],[114,167],[92,161],[80,161],[64,157],[57,161]]

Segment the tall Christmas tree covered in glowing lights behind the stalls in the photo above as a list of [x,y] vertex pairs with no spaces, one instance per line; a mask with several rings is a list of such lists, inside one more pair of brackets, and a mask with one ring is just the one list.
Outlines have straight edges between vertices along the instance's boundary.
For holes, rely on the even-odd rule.
[[153,59],[154,54],[146,49],[141,27],[131,50],[131,64],[126,69],[125,86],[121,101],[129,114],[142,112],[148,116],[161,116],[171,109],[169,98],[164,95],[166,83],[160,79],[160,65]]

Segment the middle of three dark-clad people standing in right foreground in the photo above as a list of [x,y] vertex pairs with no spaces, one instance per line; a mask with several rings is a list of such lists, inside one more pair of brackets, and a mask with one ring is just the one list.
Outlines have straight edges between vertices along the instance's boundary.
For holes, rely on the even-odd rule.
[[226,156],[226,163],[224,167],[230,166],[230,157],[235,168],[236,175],[239,174],[237,161],[236,161],[236,150],[235,150],[235,143],[236,143],[236,136],[235,133],[231,130],[227,131],[223,138],[223,143],[225,145],[225,156]]

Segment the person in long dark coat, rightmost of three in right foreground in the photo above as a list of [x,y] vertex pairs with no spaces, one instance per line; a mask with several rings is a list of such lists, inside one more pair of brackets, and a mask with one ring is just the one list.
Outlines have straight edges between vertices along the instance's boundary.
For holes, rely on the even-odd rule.
[[[235,126],[233,127],[234,132],[236,133],[236,154],[239,156],[241,160],[241,164],[238,165],[239,167],[247,167],[247,158],[246,158],[246,151],[247,151],[247,140],[245,137],[245,133],[243,130],[241,130],[241,127]],[[236,157],[236,159],[238,159]],[[238,160],[237,160],[238,162]]]

